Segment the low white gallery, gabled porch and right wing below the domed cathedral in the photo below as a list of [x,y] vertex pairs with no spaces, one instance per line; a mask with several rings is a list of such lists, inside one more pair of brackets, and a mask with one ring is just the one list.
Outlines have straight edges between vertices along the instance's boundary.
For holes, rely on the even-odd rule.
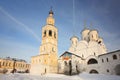
[[[71,54],[71,57],[68,59],[64,59],[64,57],[68,56],[67,54]],[[83,59],[82,57],[75,55],[74,53],[65,52],[60,56],[60,59],[58,60],[58,72],[69,74],[70,61],[72,62],[72,74],[87,72],[120,75],[120,50],[101,54],[99,56],[91,55],[88,56],[86,59]],[[67,63],[67,65],[65,64],[65,62]]]

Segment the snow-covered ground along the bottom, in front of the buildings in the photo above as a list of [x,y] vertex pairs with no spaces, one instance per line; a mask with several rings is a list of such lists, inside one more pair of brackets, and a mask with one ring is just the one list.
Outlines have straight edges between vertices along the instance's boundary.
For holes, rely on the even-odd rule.
[[82,73],[74,76],[62,74],[30,75],[0,74],[0,80],[120,80],[120,76]]

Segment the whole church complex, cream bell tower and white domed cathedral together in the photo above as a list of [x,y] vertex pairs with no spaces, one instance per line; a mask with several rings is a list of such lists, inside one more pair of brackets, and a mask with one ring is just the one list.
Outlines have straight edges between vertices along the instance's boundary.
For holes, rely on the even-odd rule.
[[72,36],[68,51],[58,57],[58,29],[54,13],[49,11],[46,25],[42,27],[39,54],[32,56],[30,74],[79,74],[81,72],[120,75],[120,50],[107,52],[96,29],[85,27],[81,38]]

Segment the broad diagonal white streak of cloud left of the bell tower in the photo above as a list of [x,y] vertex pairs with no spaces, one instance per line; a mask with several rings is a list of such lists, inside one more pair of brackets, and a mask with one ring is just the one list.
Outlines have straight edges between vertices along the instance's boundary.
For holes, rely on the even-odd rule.
[[32,30],[30,29],[27,25],[23,24],[22,22],[18,21],[15,17],[10,15],[7,11],[5,11],[2,7],[0,7],[0,11],[4,13],[8,18],[10,18],[12,21],[17,23],[18,25],[22,26],[28,33],[30,33],[33,37],[35,37],[39,42],[40,38],[39,36]]

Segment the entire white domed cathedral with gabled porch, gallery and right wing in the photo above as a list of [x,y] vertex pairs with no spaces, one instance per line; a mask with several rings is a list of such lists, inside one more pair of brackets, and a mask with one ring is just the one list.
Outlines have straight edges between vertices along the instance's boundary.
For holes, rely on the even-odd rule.
[[[98,35],[97,30],[85,28],[82,32],[82,39],[73,36],[71,46],[68,52],[63,53],[58,60],[60,73],[65,71],[70,74],[70,65],[72,63],[72,74],[80,72],[120,75],[120,50],[107,53],[103,39]],[[71,54],[67,60],[64,59]],[[76,67],[77,66],[77,67]],[[66,68],[67,67],[67,68]]]

